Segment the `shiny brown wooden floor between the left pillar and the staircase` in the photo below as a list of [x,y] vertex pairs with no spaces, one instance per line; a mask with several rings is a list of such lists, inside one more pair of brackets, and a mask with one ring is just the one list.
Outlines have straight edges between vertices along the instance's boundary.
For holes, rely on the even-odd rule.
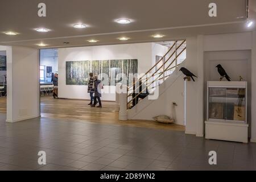
[[51,96],[41,97],[41,116],[46,118],[70,119],[94,123],[110,123],[155,129],[184,131],[184,126],[166,125],[154,121],[119,121],[118,112],[114,111],[114,102],[102,102],[102,108],[90,107],[88,101],[55,100]]

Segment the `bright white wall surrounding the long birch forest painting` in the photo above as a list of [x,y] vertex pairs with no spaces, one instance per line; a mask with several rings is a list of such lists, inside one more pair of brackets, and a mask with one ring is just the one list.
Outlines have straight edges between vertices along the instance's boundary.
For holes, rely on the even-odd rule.
[[[59,97],[89,99],[87,86],[65,84],[65,62],[82,60],[138,59],[138,73],[145,73],[151,68],[152,43],[122,44],[112,46],[75,47],[59,49]],[[108,90],[105,86],[104,90]],[[111,86],[114,91],[115,86]],[[102,100],[114,101],[115,93],[103,93]]]

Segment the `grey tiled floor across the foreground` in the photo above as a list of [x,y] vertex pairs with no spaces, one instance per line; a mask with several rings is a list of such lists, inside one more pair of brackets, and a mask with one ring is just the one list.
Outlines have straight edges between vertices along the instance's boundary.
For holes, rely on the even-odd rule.
[[[64,119],[0,120],[0,170],[256,169],[255,143]],[[217,166],[208,164],[211,150],[217,151]],[[38,164],[38,151],[46,151],[45,166]]]

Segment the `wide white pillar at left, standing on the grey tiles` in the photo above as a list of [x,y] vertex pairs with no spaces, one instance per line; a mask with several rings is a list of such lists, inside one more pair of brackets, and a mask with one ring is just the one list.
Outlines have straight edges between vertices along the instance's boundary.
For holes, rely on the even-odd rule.
[[7,47],[7,122],[39,117],[38,49]]

